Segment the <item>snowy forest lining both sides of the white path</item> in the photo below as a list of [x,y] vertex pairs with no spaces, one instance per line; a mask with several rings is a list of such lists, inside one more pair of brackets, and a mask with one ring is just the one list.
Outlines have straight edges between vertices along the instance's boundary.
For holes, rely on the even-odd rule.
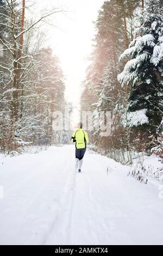
[[[104,1],[93,22],[80,110],[93,117],[111,112],[111,134],[90,131],[92,149],[122,163],[132,163],[140,152],[163,158],[162,5],[162,0]],[[68,131],[53,131],[53,112],[71,105],[64,96],[64,71],[35,27],[62,9],[36,21],[26,18],[21,1],[1,0],[0,11],[1,152],[70,142]]]

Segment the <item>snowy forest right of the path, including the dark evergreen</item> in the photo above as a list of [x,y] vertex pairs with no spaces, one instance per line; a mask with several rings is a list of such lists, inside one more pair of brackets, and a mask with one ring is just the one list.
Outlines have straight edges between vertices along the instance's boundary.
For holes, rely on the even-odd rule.
[[163,2],[104,1],[83,82],[81,109],[111,112],[111,135],[92,132],[93,149],[132,163],[163,158]]

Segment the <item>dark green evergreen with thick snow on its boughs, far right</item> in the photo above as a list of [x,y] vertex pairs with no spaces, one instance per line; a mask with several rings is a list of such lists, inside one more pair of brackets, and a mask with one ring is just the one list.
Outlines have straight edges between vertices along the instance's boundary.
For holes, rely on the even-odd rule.
[[131,92],[128,115],[123,115],[124,126],[134,128],[134,134],[147,139],[156,136],[162,120],[163,96],[163,9],[159,0],[146,1],[135,29],[136,38],[120,59],[129,58],[118,75],[122,87],[129,85]]

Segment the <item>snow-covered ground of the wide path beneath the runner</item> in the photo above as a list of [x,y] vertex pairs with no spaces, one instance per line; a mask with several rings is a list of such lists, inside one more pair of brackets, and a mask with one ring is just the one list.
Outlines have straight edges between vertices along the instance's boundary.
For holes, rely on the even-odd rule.
[[87,151],[78,174],[72,145],[1,156],[0,244],[163,244],[163,187],[128,170]]

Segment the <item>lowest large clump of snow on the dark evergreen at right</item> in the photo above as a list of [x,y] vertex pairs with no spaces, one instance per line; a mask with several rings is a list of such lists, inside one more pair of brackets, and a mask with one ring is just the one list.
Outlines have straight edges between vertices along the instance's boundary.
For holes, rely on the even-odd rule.
[[129,112],[122,115],[122,124],[124,127],[133,127],[142,124],[148,124],[149,120],[146,115],[147,109],[140,109],[134,112]]

